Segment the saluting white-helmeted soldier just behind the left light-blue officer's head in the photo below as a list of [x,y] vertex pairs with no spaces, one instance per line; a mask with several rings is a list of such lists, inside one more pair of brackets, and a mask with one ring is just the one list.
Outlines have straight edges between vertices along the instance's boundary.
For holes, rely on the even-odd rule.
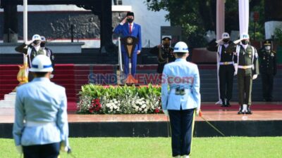
[[[42,54],[48,56],[46,49],[41,48],[40,43],[41,37],[39,36],[39,34],[35,34],[32,36],[31,41],[25,41],[25,43],[15,48],[15,50],[19,53],[24,53],[27,55],[29,68],[31,67],[31,62],[36,55]],[[33,75],[31,73],[28,73],[28,81],[32,81],[32,79]]]

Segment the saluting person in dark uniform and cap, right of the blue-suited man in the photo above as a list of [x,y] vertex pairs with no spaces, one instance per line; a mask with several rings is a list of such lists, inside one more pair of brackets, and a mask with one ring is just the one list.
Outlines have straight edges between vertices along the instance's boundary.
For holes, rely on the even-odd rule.
[[173,56],[173,48],[171,48],[171,38],[164,37],[161,44],[154,46],[149,53],[157,55],[158,67],[157,72],[161,74],[164,70],[164,65],[168,62],[173,62],[176,58]]

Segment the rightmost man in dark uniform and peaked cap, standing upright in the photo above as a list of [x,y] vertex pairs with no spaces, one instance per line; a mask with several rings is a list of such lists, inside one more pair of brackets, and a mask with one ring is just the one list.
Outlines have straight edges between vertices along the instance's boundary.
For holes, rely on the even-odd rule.
[[274,76],[277,72],[276,52],[271,50],[271,41],[264,41],[264,46],[259,50],[259,70],[262,75],[262,94],[264,101],[272,100]]

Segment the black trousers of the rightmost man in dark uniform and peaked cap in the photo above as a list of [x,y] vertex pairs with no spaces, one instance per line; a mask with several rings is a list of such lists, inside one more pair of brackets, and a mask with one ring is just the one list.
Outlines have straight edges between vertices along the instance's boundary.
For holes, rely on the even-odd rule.
[[272,90],[274,85],[274,75],[262,73],[262,94],[264,100],[272,99]]

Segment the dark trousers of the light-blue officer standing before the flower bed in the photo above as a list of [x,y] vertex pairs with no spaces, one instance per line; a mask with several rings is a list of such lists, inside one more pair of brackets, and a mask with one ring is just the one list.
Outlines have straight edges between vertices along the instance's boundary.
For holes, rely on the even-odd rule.
[[194,109],[168,110],[171,120],[172,156],[189,155],[192,140],[192,119]]

